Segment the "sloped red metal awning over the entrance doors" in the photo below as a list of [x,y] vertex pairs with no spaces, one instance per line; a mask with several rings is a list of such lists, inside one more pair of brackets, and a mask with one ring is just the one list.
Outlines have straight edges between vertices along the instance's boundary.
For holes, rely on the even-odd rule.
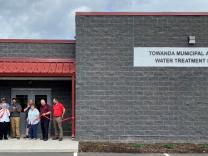
[[0,58],[0,76],[68,77],[74,73],[73,59]]

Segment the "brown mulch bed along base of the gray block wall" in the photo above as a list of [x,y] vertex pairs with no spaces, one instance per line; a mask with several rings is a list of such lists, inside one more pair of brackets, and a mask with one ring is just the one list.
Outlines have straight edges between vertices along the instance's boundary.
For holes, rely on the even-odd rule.
[[208,153],[208,144],[136,144],[80,142],[79,152]]

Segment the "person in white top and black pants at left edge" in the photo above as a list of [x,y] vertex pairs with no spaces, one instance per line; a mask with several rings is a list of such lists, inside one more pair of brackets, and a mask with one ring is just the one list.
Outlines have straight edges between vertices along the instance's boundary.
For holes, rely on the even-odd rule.
[[6,103],[1,103],[0,104],[0,140],[4,138],[4,140],[8,140],[8,128],[9,128],[9,108]]

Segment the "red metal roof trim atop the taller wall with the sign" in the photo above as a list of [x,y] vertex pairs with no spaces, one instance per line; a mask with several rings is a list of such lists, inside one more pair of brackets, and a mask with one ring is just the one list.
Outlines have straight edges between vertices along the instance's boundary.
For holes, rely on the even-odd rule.
[[208,12],[76,12],[76,16],[208,16]]

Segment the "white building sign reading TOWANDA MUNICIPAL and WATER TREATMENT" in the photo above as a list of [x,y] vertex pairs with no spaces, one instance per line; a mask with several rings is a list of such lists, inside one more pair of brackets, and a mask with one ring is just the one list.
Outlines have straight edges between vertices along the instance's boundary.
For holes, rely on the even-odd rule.
[[208,47],[135,47],[135,67],[208,67]]

